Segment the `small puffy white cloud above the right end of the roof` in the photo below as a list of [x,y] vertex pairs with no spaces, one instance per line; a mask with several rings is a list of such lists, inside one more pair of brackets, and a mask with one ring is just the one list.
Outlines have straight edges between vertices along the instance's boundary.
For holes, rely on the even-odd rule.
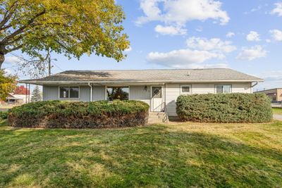
[[240,54],[237,56],[238,59],[252,61],[256,58],[262,58],[266,56],[266,51],[262,46],[252,46],[250,48],[243,47]]

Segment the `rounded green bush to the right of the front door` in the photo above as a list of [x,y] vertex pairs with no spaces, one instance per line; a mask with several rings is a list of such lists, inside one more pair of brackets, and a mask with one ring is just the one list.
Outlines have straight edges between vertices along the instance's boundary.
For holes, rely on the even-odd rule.
[[264,123],[272,120],[265,94],[193,94],[179,96],[180,120],[210,123]]

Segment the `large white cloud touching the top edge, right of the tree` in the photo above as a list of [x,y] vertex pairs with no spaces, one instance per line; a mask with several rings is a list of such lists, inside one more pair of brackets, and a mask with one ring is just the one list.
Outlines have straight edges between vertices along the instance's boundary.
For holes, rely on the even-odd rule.
[[221,2],[214,0],[140,0],[140,8],[145,15],[137,18],[137,25],[160,21],[173,27],[184,27],[188,21],[208,19],[225,25],[230,20],[221,9]]

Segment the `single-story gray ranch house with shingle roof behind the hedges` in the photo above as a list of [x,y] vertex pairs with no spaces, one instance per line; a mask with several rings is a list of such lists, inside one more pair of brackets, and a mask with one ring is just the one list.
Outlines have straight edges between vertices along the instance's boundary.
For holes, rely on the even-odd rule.
[[225,68],[191,70],[69,70],[21,83],[43,86],[43,100],[145,101],[150,111],[176,116],[181,94],[252,93],[262,79]]

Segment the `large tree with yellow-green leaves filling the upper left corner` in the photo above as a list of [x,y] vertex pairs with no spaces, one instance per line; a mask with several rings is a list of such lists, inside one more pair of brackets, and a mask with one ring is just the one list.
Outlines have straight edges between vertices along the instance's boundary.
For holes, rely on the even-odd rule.
[[0,0],[0,70],[20,50],[23,67],[45,70],[50,53],[68,58],[96,54],[121,61],[128,36],[123,8],[114,0]]

